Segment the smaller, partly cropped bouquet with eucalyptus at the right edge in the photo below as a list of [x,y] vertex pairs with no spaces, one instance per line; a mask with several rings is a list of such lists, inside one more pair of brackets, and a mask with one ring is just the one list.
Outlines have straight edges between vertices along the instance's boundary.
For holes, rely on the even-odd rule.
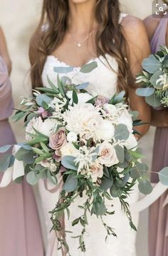
[[137,95],[145,97],[153,107],[168,107],[168,48],[160,47],[160,51],[145,58],[142,62],[142,74],[137,76]]

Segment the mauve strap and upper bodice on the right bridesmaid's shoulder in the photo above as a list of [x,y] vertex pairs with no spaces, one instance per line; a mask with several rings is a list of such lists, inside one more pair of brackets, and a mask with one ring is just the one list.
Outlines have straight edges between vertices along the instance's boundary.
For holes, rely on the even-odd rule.
[[159,51],[159,46],[166,45],[168,18],[163,18],[159,21],[156,31],[151,40],[152,53]]

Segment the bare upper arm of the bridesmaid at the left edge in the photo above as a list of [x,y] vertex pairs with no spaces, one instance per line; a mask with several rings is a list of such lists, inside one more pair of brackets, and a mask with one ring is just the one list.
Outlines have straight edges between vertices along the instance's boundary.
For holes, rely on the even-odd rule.
[[11,58],[6,44],[4,32],[0,27],[0,56],[4,59],[6,66],[8,67],[9,74],[11,73]]

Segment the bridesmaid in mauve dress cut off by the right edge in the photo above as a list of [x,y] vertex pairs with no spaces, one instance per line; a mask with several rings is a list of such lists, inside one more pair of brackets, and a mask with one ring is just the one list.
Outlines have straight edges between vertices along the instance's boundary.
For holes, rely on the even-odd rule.
[[[166,1],[164,1],[165,3]],[[153,16],[145,19],[152,53],[159,50],[159,46],[168,46],[168,18]],[[159,172],[168,166],[168,110],[153,110],[152,125],[157,127],[154,138],[152,171]],[[152,183],[158,182],[158,175],[152,174]],[[153,205],[149,207],[149,256],[168,255],[168,204],[166,191]]]

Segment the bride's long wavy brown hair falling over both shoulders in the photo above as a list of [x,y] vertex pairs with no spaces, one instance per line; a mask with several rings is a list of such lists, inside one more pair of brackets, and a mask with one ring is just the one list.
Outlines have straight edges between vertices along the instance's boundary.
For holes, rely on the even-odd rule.
[[[31,61],[32,87],[43,86],[41,74],[46,57],[61,45],[68,27],[68,0],[43,0],[41,21],[31,39],[29,56]],[[97,56],[108,53],[118,63],[118,91],[128,91],[132,83],[127,41],[119,24],[120,4],[118,0],[98,0],[95,6],[95,19],[98,22],[96,34]],[[43,31],[43,24],[48,29]]]

